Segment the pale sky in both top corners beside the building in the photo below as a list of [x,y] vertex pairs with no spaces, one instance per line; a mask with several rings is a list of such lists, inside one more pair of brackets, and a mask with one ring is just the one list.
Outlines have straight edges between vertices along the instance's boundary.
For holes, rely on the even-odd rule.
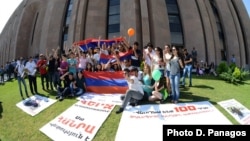
[[[22,0],[1,0],[0,1],[0,33],[2,32],[8,19],[18,7]],[[250,17],[250,0],[243,0]]]

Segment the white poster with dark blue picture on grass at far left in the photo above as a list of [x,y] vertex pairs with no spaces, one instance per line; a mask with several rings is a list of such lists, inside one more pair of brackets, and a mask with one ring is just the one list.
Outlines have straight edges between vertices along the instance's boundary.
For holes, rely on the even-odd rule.
[[23,110],[25,113],[35,116],[54,104],[57,100],[47,98],[40,95],[33,95],[30,98],[22,100],[16,104],[18,108]]

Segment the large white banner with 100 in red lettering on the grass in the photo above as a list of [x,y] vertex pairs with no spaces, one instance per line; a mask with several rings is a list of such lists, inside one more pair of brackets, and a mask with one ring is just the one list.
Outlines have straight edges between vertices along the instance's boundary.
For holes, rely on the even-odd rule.
[[232,123],[210,102],[128,106],[122,113],[116,141],[160,141],[163,125]]

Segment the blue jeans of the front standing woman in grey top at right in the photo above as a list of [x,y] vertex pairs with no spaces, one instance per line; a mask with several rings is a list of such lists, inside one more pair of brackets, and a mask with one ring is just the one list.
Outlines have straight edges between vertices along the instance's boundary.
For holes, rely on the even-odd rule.
[[177,73],[176,75],[170,74],[170,84],[171,84],[171,90],[172,90],[172,100],[178,101],[180,97],[180,73]]

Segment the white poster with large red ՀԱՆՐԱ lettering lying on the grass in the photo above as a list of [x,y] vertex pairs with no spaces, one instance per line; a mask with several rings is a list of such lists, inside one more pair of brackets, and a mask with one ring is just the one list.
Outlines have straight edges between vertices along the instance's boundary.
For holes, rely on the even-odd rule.
[[114,104],[80,100],[40,128],[54,141],[91,141]]

